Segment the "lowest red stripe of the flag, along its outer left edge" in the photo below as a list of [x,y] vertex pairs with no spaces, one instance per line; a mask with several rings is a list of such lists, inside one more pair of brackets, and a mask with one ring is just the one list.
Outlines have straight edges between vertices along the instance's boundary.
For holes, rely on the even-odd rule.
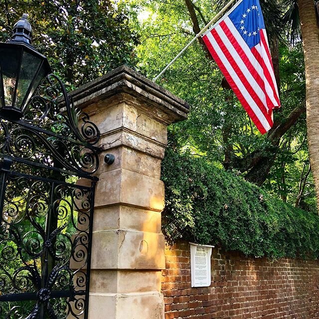
[[203,41],[205,42],[205,44],[207,45],[207,48],[208,48],[210,54],[212,55],[212,57],[216,61],[218,67],[220,68],[220,70],[224,74],[226,80],[228,81],[229,85],[231,86],[231,88],[233,89],[234,93],[236,94],[238,100],[240,101],[240,103],[242,104],[242,106],[244,107],[246,112],[248,113],[249,117],[252,119],[252,121],[256,125],[257,129],[259,130],[259,132],[261,134],[265,134],[267,131],[265,130],[264,126],[259,121],[259,119],[256,116],[255,112],[251,109],[251,107],[247,103],[247,101],[244,98],[244,96],[242,95],[241,91],[238,89],[237,85],[235,84],[234,80],[232,79],[232,77],[228,73],[228,71],[227,71],[226,67],[224,66],[223,62],[220,60],[218,54],[216,53],[215,49],[211,45],[207,35],[204,35],[202,38],[203,38]]

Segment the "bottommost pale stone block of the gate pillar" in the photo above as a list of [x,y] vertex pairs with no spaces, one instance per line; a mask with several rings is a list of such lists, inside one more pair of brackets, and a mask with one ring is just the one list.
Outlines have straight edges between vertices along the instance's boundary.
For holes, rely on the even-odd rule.
[[158,292],[90,293],[89,318],[163,319],[163,297]]

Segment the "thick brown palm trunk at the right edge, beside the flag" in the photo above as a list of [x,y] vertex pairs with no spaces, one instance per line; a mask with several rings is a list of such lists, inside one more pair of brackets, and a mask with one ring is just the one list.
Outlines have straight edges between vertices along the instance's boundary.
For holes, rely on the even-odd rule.
[[306,73],[307,136],[319,207],[319,28],[314,0],[299,0]]

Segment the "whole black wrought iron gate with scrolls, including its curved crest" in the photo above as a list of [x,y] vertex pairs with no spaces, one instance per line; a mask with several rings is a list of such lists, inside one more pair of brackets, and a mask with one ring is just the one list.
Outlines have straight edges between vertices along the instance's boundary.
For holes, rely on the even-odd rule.
[[54,75],[0,117],[0,319],[87,318],[99,138]]

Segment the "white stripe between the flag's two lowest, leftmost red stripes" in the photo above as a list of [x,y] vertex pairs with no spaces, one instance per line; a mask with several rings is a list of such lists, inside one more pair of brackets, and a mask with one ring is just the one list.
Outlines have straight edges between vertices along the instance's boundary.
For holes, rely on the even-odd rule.
[[262,111],[260,110],[258,105],[255,103],[254,99],[248,93],[247,89],[245,88],[245,86],[243,85],[241,80],[239,79],[239,77],[236,74],[236,72],[234,71],[233,67],[230,65],[229,61],[225,57],[224,53],[222,52],[221,48],[217,44],[217,42],[214,39],[214,37],[211,34],[211,32],[208,32],[206,34],[206,36],[209,39],[209,41],[210,41],[211,45],[213,46],[213,48],[215,49],[216,54],[219,56],[220,60],[223,62],[223,64],[224,64],[225,68],[227,69],[229,75],[231,76],[231,78],[235,82],[236,86],[241,91],[241,93],[242,93],[243,97],[245,98],[246,102],[249,104],[249,106],[251,107],[253,112],[256,114],[257,118],[259,119],[260,123],[265,128],[265,130],[269,131],[271,129],[271,126],[269,125],[266,117],[264,116],[264,114],[262,113]]

